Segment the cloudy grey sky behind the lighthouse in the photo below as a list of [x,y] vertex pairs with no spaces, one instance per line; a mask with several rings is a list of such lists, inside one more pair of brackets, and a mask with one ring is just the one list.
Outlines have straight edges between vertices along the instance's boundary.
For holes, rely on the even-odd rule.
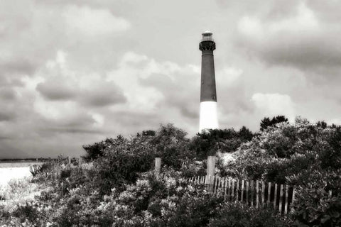
[[220,128],[341,123],[340,1],[0,1],[0,158],[174,123],[198,130],[201,33]]

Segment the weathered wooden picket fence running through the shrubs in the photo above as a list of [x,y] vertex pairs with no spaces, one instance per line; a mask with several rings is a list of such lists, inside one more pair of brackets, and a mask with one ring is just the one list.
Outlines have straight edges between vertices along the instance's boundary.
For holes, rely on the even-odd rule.
[[190,182],[205,184],[212,193],[224,194],[225,201],[240,201],[249,206],[273,206],[279,214],[288,214],[295,201],[295,187],[230,177],[197,176]]

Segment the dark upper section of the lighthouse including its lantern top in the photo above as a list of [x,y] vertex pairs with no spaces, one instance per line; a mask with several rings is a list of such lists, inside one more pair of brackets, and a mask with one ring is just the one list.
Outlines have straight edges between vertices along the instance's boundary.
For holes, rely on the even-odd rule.
[[215,89],[215,61],[213,57],[215,41],[213,40],[210,31],[202,33],[199,49],[202,51],[200,102],[217,101],[217,92]]

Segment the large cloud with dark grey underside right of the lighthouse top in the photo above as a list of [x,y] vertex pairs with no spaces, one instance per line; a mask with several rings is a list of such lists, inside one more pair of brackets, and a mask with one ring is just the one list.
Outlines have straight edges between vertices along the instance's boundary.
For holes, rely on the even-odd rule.
[[237,25],[237,43],[271,65],[289,65],[303,70],[338,67],[341,45],[338,21],[326,23],[318,9],[304,1],[286,17],[243,16]]

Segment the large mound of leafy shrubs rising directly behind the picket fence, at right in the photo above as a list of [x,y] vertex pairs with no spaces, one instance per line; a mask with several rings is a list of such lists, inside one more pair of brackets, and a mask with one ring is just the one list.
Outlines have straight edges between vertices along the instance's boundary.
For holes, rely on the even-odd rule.
[[235,162],[226,168],[234,170],[229,173],[232,177],[280,184],[319,184],[312,181],[314,172],[328,177],[328,172],[341,166],[340,138],[340,127],[297,118],[294,124],[278,123],[242,144],[234,153]]

